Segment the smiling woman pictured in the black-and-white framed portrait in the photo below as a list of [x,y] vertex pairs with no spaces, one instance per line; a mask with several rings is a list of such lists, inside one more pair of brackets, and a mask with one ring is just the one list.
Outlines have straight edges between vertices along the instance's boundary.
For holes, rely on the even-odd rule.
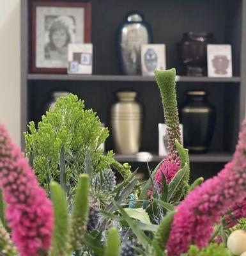
[[[47,20],[50,18],[47,17]],[[45,45],[45,59],[67,61],[68,44],[74,43],[74,38],[75,20],[68,16],[55,19],[49,28],[49,43]]]

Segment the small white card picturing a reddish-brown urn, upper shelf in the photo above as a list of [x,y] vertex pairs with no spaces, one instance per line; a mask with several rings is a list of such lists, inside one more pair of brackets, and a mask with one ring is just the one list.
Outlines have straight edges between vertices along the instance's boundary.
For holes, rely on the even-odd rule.
[[232,56],[230,44],[208,44],[208,76],[232,77]]

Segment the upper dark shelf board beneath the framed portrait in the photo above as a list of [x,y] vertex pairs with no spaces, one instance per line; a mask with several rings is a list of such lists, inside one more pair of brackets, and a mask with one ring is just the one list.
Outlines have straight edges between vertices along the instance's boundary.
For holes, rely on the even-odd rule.
[[[114,75],[70,75],[70,74],[28,74],[28,80],[58,80],[58,81],[122,81],[122,82],[153,82],[153,76],[114,76]],[[240,77],[192,77],[176,76],[177,82],[203,83],[239,83]]]

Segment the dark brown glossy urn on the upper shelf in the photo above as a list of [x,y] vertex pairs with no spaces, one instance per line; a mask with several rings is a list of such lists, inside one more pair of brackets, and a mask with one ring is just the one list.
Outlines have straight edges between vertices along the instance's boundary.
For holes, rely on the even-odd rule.
[[178,56],[185,65],[187,76],[206,76],[207,44],[215,43],[213,33],[187,32],[178,43]]

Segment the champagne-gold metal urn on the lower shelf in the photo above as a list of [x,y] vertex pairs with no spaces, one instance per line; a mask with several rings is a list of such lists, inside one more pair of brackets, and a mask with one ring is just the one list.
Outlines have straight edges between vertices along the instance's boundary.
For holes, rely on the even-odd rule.
[[118,102],[111,108],[111,132],[119,154],[139,152],[142,134],[142,105],[135,100],[137,93],[117,92]]

